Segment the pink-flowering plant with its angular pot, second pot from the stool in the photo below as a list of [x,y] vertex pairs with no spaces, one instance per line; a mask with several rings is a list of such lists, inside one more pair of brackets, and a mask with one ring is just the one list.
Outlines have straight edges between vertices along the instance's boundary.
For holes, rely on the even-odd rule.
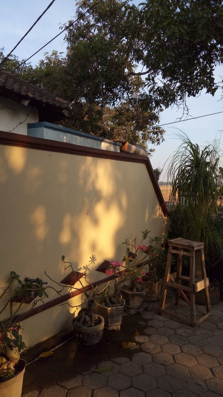
[[[107,275],[115,274],[117,276],[115,281],[115,295],[119,295],[120,289],[121,297],[126,301],[126,310],[129,314],[140,313],[142,311],[146,293],[146,288],[141,285],[142,277],[146,276],[144,270],[146,270],[148,263],[151,263],[159,255],[158,252],[154,254],[151,251],[153,249],[151,245],[142,245],[149,235],[150,231],[147,229],[142,231],[140,244],[136,243],[136,239],[132,242],[128,240],[124,241],[123,244],[127,245],[128,248],[123,261],[112,261],[106,269]],[[156,239],[158,238],[156,237]],[[119,270],[119,267],[122,270]]]

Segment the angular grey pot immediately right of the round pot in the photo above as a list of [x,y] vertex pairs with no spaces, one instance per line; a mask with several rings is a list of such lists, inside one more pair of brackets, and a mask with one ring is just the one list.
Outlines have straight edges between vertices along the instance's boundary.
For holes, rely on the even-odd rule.
[[122,306],[106,307],[98,304],[98,313],[104,318],[104,328],[106,330],[120,331],[122,313],[125,306],[125,300],[121,299]]

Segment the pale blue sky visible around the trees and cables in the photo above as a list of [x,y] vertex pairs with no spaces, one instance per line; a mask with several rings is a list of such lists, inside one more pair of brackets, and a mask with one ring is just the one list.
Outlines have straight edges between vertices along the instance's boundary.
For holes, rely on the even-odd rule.
[[[50,0],[0,0],[0,48],[5,48],[8,54],[21,39],[24,33],[31,27],[37,17],[48,6]],[[33,30],[25,37],[14,51],[19,60],[26,59],[36,50],[56,36],[60,30],[60,24],[67,22],[75,15],[75,0],[56,0],[45,15],[38,21]],[[43,58],[44,52],[51,53],[52,50],[66,52],[66,44],[63,43],[64,33],[50,43],[31,59],[31,64],[36,65]],[[223,66],[217,67],[215,71],[216,81],[221,81],[223,76]],[[219,88],[214,96],[202,92],[197,98],[188,98],[189,117],[202,116],[223,111],[222,91]],[[176,106],[164,110],[160,115],[160,124],[172,123],[182,117],[182,110]],[[185,119],[186,116],[183,116]],[[185,132],[193,143],[202,146],[205,142],[210,142],[215,137],[221,137],[219,131],[223,129],[223,113],[207,116],[195,120],[183,121],[181,123],[165,125],[165,142],[160,146],[155,146],[156,152],[151,158],[153,168],[163,168],[168,164],[168,158],[180,145],[177,135],[179,130]],[[223,137],[221,138],[223,146]],[[221,142],[220,142],[221,144]],[[149,147],[151,147],[149,145]],[[167,163],[166,163],[167,162]],[[166,180],[164,167],[160,180]]]

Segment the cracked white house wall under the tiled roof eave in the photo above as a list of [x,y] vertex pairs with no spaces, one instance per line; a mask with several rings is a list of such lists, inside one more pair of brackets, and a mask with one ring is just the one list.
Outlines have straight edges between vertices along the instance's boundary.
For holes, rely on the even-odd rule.
[[37,123],[37,108],[0,96],[0,131],[27,135],[27,123]]

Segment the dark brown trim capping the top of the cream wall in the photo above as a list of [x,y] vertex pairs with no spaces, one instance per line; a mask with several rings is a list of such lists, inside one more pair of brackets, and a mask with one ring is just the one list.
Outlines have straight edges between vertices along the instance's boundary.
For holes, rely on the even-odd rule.
[[154,187],[154,191],[158,198],[158,202],[161,206],[163,216],[167,217],[169,215],[167,206],[165,204],[163,195],[160,190],[160,186],[158,185],[158,181],[156,180],[152,165],[150,163],[150,159],[148,157],[138,156],[136,154],[128,154],[125,152],[120,152],[120,153],[111,152],[109,150],[73,145],[71,143],[52,141],[50,139],[45,139],[45,138],[29,137],[28,135],[8,133],[5,131],[0,131],[0,144],[10,145],[10,146],[20,146],[30,149],[49,150],[51,152],[77,154],[79,156],[108,158],[111,160],[129,161],[132,163],[145,164],[148,174],[150,175],[150,179]]

